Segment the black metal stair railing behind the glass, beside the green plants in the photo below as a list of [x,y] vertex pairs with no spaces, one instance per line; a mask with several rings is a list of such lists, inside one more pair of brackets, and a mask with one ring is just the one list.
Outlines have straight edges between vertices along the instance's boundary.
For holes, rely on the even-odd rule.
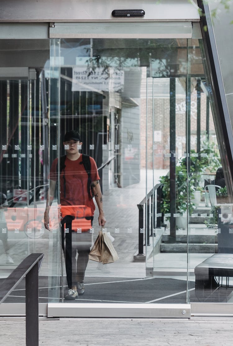
[[[161,209],[162,184],[156,184],[146,197],[137,204],[138,207],[138,256],[143,256],[144,235],[149,243],[150,235],[153,236],[153,228],[161,227],[162,217],[155,217],[156,213],[160,213]],[[147,208],[144,208],[147,203]],[[157,206],[156,206],[157,204]],[[144,210],[147,210],[147,223],[144,218]],[[156,212],[155,212],[156,210]]]

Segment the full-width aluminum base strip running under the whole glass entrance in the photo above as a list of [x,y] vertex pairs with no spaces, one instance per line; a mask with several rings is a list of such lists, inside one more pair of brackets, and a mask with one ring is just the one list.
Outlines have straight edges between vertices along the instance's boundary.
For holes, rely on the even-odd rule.
[[[186,313],[182,313],[184,311]],[[25,303],[3,303],[0,316],[25,316]],[[117,304],[39,303],[39,316],[48,317],[137,317],[190,318],[191,316],[233,316],[233,303]]]

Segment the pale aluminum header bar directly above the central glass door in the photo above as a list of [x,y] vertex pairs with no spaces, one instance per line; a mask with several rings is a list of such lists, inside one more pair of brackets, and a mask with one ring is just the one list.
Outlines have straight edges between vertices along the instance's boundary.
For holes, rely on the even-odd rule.
[[192,38],[192,22],[58,23],[50,38]]

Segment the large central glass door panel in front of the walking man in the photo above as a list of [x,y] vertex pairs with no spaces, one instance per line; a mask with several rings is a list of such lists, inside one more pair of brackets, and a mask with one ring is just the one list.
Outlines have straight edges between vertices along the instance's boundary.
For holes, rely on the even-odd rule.
[[[68,287],[62,253],[64,292],[62,286],[60,295],[58,291],[50,292],[51,301],[66,297],[68,288],[78,288],[78,282],[84,279],[85,294],[79,286],[76,302],[186,302],[187,40],[60,39],[52,40],[51,48],[50,76],[54,84],[50,97],[54,99],[50,100],[50,111],[55,111],[50,113],[50,175],[55,173],[54,167],[60,170],[61,224],[64,223],[61,232],[65,238],[66,270],[72,267],[73,271],[72,275],[67,274],[71,282]],[[106,266],[87,261],[100,230],[98,199],[93,199],[96,211],[93,225],[87,230],[83,220],[69,208],[65,214],[62,212],[64,204],[75,204],[80,212],[86,203],[77,197],[79,186],[84,191],[82,198],[87,194],[87,175],[85,183],[80,181],[76,172],[80,166],[72,168],[68,161],[72,158],[69,146],[76,150],[74,142],[80,144],[77,134],[65,140],[71,130],[80,134],[80,153],[93,157],[98,169],[99,177],[92,173],[92,179],[99,180],[103,193],[107,220],[103,230],[115,238],[113,245],[119,256],[118,261]],[[65,153],[69,155],[65,167],[53,163],[55,157],[62,161]],[[83,156],[74,157],[78,162]],[[177,186],[176,194],[172,191],[171,208],[165,206],[166,189],[162,195],[161,176],[167,191]],[[64,201],[64,186],[66,193],[67,189],[72,190],[72,201],[71,197]],[[87,206],[92,206],[92,199]],[[56,197],[52,207],[57,208]],[[75,227],[73,220],[71,226],[70,220],[64,221],[70,213],[75,217]],[[183,225],[178,227],[179,214]],[[93,216],[93,212],[83,216]],[[70,249],[67,234],[75,239]],[[58,258],[61,247],[56,237],[53,244]],[[182,239],[179,252],[174,239]],[[70,254],[73,262],[69,262]],[[59,262],[51,266],[50,275],[59,275]],[[76,297],[71,294],[66,298]]]

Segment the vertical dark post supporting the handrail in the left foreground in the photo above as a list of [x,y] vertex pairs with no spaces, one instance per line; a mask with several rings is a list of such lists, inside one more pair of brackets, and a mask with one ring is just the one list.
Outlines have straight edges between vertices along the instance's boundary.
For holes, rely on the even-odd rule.
[[38,262],[26,275],[26,346],[39,346]]

